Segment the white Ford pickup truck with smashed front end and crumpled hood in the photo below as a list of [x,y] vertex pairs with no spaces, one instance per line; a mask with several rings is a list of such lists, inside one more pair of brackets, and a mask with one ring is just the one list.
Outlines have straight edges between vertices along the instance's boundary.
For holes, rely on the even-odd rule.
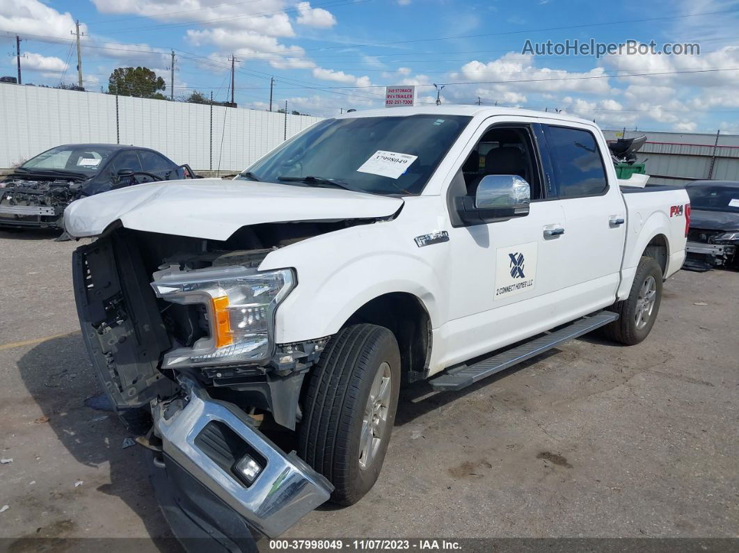
[[619,188],[588,121],[440,106],[323,120],[232,181],[92,196],[64,225],[97,237],[82,334],[174,532],[248,549],[369,491],[401,384],[644,340],[689,199]]

